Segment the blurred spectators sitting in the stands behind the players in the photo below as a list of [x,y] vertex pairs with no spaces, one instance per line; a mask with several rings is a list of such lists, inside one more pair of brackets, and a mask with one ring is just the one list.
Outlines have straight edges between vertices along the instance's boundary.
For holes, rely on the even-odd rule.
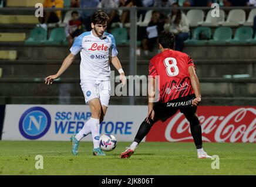
[[[68,7],[71,8],[116,8],[115,10],[106,10],[107,15],[109,15],[107,32],[110,33],[114,27],[123,28],[130,22],[130,12],[122,11],[118,9],[119,7],[170,8],[170,10],[152,11],[148,25],[137,27],[137,39],[141,41],[140,46],[146,55],[154,49],[157,43],[157,37],[149,37],[147,30],[149,27],[151,29],[156,27],[158,33],[163,30],[173,32],[176,35],[176,50],[178,51],[183,49],[184,41],[190,37],[190,25],[186,13],[179,9],[171,10],[171,8],[211,6],[213,3],[218,3],[220,6],[256,6],[256,0],[44,0],[43,7],[64,8],[67,3],[69,4]],[[71,13],[65,26],[69,46],[72,45],[75,37],[92,29],[90,17],[93,12],[94,10],[86,10]],[[61,22],[66,16],[65,13],[64,11],[46,11],[45,16],[39,18],[39,26],[47,30],[49,24]],[[147,10],[139,10],[137,12],[138,19],[140,17],[144,19],[146,13]]]

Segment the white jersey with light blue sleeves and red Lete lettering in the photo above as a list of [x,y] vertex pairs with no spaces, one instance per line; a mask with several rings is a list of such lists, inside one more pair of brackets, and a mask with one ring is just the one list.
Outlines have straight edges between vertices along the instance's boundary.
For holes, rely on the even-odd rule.
[[109,56],[117,56],[116,42],[112,34],[104,33],[96,37],[91,32],[78,36],[70,49],[76,55],[80,51],[80,79],[85,81],[104,81],[110,79]]

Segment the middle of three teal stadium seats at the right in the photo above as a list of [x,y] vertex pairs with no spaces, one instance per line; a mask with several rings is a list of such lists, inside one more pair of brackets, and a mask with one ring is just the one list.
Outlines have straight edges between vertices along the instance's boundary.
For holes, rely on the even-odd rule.
[[213,40],[209,40],[209,44],[225,44],[232,39],[232,29],[230,27],[218,27],[213,35]]

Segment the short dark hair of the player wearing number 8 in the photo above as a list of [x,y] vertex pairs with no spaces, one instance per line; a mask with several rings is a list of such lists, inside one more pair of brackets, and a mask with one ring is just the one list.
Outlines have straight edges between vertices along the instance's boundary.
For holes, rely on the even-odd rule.
[[164,49],[174,49],[175,36],[173,33],[163,31],[159,34],[159,44]]

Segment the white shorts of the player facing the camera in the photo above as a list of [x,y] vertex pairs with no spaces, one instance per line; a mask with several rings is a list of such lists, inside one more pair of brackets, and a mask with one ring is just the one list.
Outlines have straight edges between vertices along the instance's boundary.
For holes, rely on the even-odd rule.
[[99,98],[102,105],[109,106],[110,81],[85,81],[80,85],[86,104],[93,98]]

